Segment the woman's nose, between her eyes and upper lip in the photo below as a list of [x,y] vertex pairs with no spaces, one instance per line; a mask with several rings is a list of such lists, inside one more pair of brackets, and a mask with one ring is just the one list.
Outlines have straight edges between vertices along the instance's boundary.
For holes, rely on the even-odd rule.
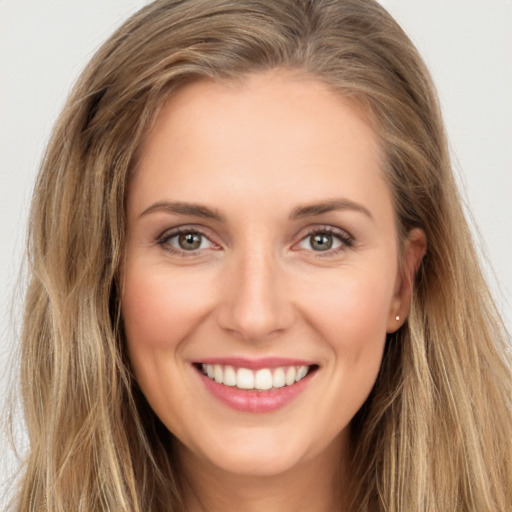
[[272,254],[241,254],[226,268],[218,323],[246,341],[263,341],[290,328],[295,311],[287,279]]

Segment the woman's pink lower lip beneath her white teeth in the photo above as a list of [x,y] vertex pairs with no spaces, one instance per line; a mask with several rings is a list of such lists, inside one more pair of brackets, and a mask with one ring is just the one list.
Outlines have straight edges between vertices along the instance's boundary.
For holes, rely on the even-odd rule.
[[235,386],[225,386],[198,372],[206,389],[218,400],[231,409],[241,412],[264,413],[281,409],[297,398],[309,384],[313,373],[291,386],[272,389],[269,391],[244,390]]

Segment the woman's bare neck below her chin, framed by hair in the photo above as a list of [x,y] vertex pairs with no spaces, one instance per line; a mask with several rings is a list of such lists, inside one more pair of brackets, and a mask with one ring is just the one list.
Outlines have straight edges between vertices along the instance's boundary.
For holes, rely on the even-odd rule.
[[[198,460],[181,447],[188,512],[346,512],[346,463],[341,443],[276,475],[239,475]],[[345,458],[346,459],[346,458]],[[341,461],[341,462],[340,462]]]

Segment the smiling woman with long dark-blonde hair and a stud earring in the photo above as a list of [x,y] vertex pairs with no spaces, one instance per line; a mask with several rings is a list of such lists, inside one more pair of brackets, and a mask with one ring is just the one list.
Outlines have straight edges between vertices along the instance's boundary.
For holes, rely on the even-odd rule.
[[507,335],[372,1],[157,1],[33,200],[19,510],[495,511]]

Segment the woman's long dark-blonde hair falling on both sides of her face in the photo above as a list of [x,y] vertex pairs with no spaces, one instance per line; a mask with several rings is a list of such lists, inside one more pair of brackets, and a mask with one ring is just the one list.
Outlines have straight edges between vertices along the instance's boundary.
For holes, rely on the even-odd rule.
[[[184,510],[173,437],[130,371],[119,310],[125,191],[173,89],[294,69],[371,115],[402,240],[428,253],[353,420],[353,510],[510,510],[508,335],[482,277],[429,74],[373,0],[158,0],[84,70],[33,198],[22,334],[30,451],[17,510]],[[341,485],[341,483],[340,483]]]

